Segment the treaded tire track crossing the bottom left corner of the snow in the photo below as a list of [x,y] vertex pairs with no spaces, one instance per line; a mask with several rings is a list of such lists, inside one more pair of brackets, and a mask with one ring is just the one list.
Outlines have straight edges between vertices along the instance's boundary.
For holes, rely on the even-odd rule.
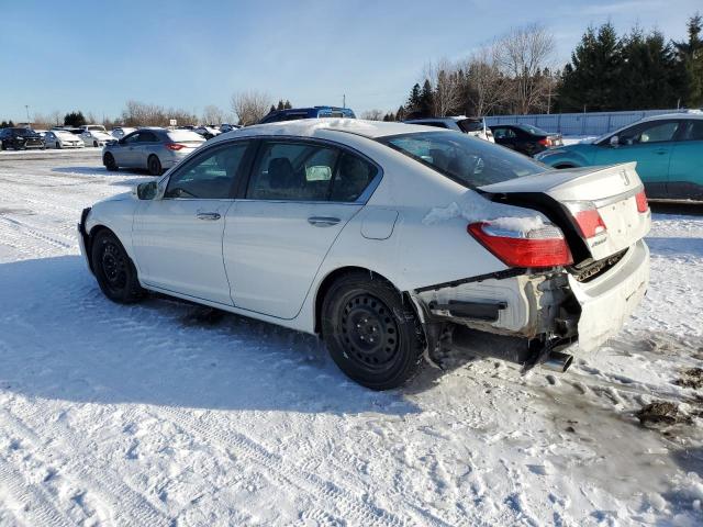
[[0,487],[23,505],[20,517],[32,527],[70,527],[74,525],[54,505],[46,492],[27,483],[13,464],[0,458]]

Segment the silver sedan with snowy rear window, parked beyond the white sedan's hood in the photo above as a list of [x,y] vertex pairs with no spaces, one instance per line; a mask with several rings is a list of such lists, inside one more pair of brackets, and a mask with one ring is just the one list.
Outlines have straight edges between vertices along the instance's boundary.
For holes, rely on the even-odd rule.
[[154,176],[171,168],[205,142],[189,130],[140,128],[102,150],[108,170],[145,168]]

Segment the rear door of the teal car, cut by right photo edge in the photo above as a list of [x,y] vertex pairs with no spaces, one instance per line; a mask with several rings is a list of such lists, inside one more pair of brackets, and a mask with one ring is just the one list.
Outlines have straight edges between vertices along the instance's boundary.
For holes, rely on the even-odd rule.
[[703,119],[682,121],[671,150],[667,194],[674,199],[703,200]]

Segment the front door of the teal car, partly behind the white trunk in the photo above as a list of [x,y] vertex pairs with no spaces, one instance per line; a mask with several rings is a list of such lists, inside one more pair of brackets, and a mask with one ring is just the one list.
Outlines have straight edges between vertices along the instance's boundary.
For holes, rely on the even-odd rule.
[[637,173],[652,198],[665,198],[669,178],[669,160],[673,138],[681,123],[677,120],[656,120],[635,124],[618,132],[617,144],[612,137],[600,143],[595,165],[637,161]]

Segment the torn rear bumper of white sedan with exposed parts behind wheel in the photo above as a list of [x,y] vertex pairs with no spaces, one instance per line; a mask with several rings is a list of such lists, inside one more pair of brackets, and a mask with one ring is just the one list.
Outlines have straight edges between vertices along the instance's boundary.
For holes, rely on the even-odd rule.
[[425,326],[427,359],[437,366],[453,349],[524,369],[543,365],[566,371],[571,354],[598,349],[621,329],[648,282],[649,250],[639,240],[593,276],[514,269],[422,288],[410,296]]

